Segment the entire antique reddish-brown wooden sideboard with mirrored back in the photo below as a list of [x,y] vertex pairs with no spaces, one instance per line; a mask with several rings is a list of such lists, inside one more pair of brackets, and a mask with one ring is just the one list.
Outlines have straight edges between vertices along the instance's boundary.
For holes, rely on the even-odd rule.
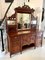
[[[14,53],[21,52],[25,45],[37,44],[37,19],[34,18],[34,9],[28,5],[17,7],[15,13],[6,20],[8,51],[10,56]],[[32,18],[33,17],[33,18]],[[33,24],[35,21],[35,24]],[[42,33],[40,35],[42,45]]]

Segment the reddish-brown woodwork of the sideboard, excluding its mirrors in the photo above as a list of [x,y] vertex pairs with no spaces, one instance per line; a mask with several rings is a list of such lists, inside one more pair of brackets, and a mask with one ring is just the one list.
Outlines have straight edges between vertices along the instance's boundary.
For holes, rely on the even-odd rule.
[[18,30],[17,28],[17,13],[31,14],[31,20],[33,20],[32,17],[34,18],[34,16],[32,15],[32,13],[35,11],[34,9],[31,9],[28,5],[24,5],[22,7],[17,7],[14,10],[15,10],[15,13],[12,16],[8,17],[8,19],[6,20],[6,22],[9,19],[10,21],[13,19],[16,21],[15,25],[7,24],[7,27],[6,27],[8,50],[10,52],[10,55],[17,52],[22,53],[22,47],[25,45],[30,45],[32,43],[34,43],[35,45],[34,47],[36,48],[36,40],[37,40],[37,32],[38,32],[38,29],[36,29],[37,24],[35,25],[34,28],[31,26],[31,28],[26,30]]

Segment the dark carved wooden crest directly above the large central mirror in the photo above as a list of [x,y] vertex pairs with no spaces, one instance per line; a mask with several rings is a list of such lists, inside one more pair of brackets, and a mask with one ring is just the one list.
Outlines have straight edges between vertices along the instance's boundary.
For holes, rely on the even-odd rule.
[[28,13],[28,14],[32,14],[35,11],[33,8],[31,9],[28,5],[24,5],[22,7],[19,6],[14,10],[18,13]]

